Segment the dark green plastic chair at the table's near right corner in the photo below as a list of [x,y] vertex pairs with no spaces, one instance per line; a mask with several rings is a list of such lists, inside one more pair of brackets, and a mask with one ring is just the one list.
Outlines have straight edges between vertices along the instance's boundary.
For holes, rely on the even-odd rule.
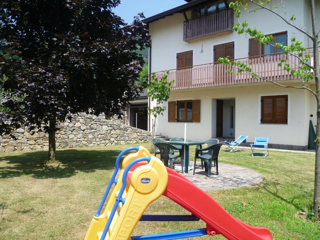
[[[220,151],[221,146],[222,146],[222,143],[217,143],[217,144],[214,144],[214,145],[207,147],[207,148],[204,148],[204,149],[196,148],[196,156],[195,156],[195,164],[193,167],[193,175],[195,175],[195,171],[196,171],[196,159],[197,158],[201,159],[201,161],[204,161],[204,172],[208,172],[208,177],[210,177],[210,175],[211,175],[212,162],[214,163],[214,165],[216,167],[217,175],[219,175],[218,155],[219,155],[219,151]],[[199,155],[203,151],[208,151],[208,153],[204,154],[204,155]]]

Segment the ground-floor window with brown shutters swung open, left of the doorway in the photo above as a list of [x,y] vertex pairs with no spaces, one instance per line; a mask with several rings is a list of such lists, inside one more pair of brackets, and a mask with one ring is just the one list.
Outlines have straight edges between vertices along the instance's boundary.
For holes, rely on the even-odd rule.
[[[177,108],[176,108],[177,106]],[[200,122],[200,100],[168,102],[168,122]]]

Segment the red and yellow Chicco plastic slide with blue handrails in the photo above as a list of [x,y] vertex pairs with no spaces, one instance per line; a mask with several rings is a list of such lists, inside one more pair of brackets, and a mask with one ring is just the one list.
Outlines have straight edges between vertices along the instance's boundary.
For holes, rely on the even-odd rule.
[[[116,179],[121,157],[129,151],[135,152],[124,158],[122,169]],[[105,205],[113,185],[113,191]],[[172,199],[188,210],[191,215],[143,215],[148,205],[161,195]],[[206,223],[206,228],[131,236],[138,221],[197,221],[199,219]],[[139,146],[125,149],[117,157],[116,170],[84,239],[171,240],[218,234],[229,240],[272,239],[267,228],[252,227],[237,220],[208,194],[179,173],[165,167],[158,158],[151,156],[146,148]]]

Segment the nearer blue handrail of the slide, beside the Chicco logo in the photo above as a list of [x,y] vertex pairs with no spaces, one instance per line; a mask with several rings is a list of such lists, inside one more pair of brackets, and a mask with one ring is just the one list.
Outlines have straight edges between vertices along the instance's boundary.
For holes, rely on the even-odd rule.
[[150,162],[150,160],[151,160],[151,156],[149,156],[149,157],[139,157],[139,158],[135,159],[134,161],[132,161],[131,163],[129,163],[128,166],[124,169],[124,173],[123,173],[123,176],[122,176],[122,186],[120,188],[118,196],[116,197],[115,204],[113,205],[113,208],[111,210],[110,216],[108,218],[107,224],[106,224],[106,226],[105,226],[105,228],[103,230],[103,233],[101,235],[100,240],[104,240],[106,238],[108,230],[109,230],[110,225],[111,225],[111,222],[112,222],[113,217],[115,216],[116,210],[118,208],[119,202],[121,202],[122,204],[124,204],[124,202],[125,202],[125,198],[122,198],[122,194],[124,193],[125,187],[127,185],[127,175],[128,175],[128,172],[129,172],[130,168],[136,163],[139,163],[139,162],[142,162],[142,161]]

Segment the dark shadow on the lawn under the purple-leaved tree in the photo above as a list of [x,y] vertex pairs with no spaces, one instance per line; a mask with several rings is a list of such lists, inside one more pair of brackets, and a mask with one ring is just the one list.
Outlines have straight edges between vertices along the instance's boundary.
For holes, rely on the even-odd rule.
[[115,167],[119,150],[77,150],[57,151],[59,164],[44,164],[47,151],[25,152],[16,156],[0,158],[0,178],[12,178],[31,175],[33,178],[68,178],[77,172],[95,172],[96,170],[112,170]]

